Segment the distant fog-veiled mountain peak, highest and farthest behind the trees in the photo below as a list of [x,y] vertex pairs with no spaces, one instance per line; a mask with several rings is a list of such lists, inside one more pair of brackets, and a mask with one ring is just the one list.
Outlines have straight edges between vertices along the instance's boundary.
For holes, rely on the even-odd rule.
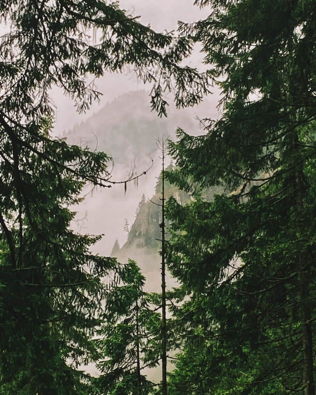
[[137,157],[138,164],[141,164],[156,149],[155,138],[158,135],[173,138],[177,127],[190,133],[201,133],[194,118],[196,115],[209,115],[208,111],[208,103],[180,110],[170,105],[168,117],[160,118],[150,109],[149,93],[139,90],[123,94],[107,103],[64,135],[70,143],[88,143],[91,148],[110,154],[115,163],[130,164],[130,160]]

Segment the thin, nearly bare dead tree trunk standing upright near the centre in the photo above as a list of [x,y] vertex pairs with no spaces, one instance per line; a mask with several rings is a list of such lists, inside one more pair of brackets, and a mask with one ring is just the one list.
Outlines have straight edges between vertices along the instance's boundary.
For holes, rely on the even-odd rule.
[[165,174],[164,140],[162,140],[162,395],[167,395],[166,265],[165,265]]

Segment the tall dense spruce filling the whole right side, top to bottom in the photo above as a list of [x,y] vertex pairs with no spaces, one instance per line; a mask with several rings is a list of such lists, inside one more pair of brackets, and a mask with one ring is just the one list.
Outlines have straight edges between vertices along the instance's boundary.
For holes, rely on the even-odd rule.
[[314,395],[314,2],[197,3],[209,17],[180,29],[201,42],[223,113],[169,145],[169,180],[195,190],[168,203],[169,269],[187,295],[174,391]]

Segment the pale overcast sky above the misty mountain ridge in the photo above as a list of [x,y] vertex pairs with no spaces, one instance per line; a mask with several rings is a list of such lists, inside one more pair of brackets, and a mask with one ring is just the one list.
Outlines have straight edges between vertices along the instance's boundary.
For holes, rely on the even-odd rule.
[[[207,16],[208,9],[199,9],[193,5],[193,0],[121,0],[120,6],[134,15],[140,15],[139,21],[150,24],[157,32],[177,28],[177,21],[194,22]],[[203,55],[195,51],[188,60],[190,66],[199,66]],[[55,133],[61,135],[64,130],[71,129],[76,122],[81,122],[98,111],[107,102],[130,90],[143,89],[144,84],[134,76],[121,73],[106,73],[96,80],[98,90],[103,96],[100,102],[95,102],[86,114],[79,115],[73,107],[73,102],[63,96],[62,90],[54,88],[52,99],[56,105]],[[150,88],[148,85],[147,88]]]

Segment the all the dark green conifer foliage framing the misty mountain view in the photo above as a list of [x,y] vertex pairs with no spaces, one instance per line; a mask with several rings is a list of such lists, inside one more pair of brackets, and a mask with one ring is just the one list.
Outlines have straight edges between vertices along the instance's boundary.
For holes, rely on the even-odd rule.
[[[169,358],[164,393],[315,394],[314,3],[196,1],[209,16],[175,37],[116,2],[0,1],[1,393],[159,393],[141,367]],[[204,74],[179,66],[194,43]],[[100,96],[89,79],[124,67],[152,83],[158,115],[166,90],[178,107],[210,78],[222,90],[207,133],[169,143],[167,266],[181,286],[164,295],[163,274],[162,298],[134,261],[92,255],[99,237],[71,230],[83,187],[115,183],[111,157],[50,135],[51,87],[85,111]],[[164,242],[162,257],[164,273]],[[172,319],[152,311],[161,299]],[[91,361],[100,378],[79,369]]]

